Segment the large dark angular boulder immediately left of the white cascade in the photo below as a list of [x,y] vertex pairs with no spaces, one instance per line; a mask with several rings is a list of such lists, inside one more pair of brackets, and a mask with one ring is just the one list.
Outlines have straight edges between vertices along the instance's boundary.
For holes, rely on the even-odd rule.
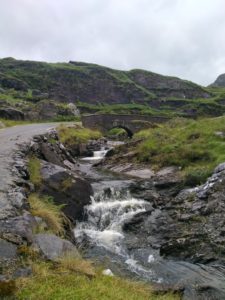
[[67,169],[43,162],[41,168],[43,194],[63,204],[63,212],[72,222],[84,218],[84,206],[90,204],[92,187],[88,181]]

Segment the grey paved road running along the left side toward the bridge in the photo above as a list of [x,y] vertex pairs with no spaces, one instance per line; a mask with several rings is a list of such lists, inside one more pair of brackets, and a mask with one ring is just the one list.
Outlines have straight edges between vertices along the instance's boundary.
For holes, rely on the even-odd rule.
[[12,214],[8,192],[13,185],[12,166],[19,145],[29,142],[34,135],[42,134],[59,123],[20,125],[0,129],[0,219]]

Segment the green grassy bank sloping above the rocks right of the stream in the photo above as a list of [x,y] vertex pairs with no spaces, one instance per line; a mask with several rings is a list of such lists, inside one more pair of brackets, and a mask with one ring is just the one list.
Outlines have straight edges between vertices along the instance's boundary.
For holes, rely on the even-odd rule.
[[225,161],[225,117],[175,119],[158,128],[135,135],[144,141],[137,149],[137,160],[154,168],[178,166],[188,184],[205,181],[213,169]]

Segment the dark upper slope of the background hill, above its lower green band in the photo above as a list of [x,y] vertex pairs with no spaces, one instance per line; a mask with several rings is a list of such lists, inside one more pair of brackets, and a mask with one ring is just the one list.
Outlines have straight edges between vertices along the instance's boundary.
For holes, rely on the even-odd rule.
[[202,87],[144,70],[118,71],[86,63],[0,60],[0,86],[38,90],[63,102],[145,103],[163,97],[207,98]]

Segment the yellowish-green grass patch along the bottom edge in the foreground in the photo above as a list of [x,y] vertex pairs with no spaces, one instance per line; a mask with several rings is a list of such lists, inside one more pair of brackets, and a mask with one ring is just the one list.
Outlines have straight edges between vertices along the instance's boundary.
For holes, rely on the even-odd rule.
[[[80,262],[77,260],[76,264],[83,266],[84,262],[81,259]],[[64,262],[58,266],[52,263],[35,263],[32,277],[17,280],[16,297],[20,300],[180,299],[174,294],[156,295],[147,284],[104,276],[100,272],[96,272],[96,275],[90,278],[73,268],[68,268]]]

